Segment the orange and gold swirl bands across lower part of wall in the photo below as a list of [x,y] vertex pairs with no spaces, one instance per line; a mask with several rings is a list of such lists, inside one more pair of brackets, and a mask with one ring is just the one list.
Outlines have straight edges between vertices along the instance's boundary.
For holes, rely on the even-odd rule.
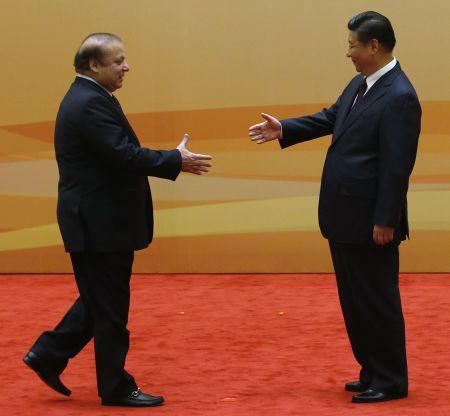
[[[322,107],[266,106],[264,110],[287,117]],[[448,206],[450,195],[450,128],[437,133],[433,120],[442,120],[450,103],[425,102],[423,109],[420,152],[409,193],[412,240],[404,244],[404,267],[445,271],[450,222],[442,205]],[[187,130],[195,138],[193,146],[215,158],[209,177],[183,176],[175,184],[150,179],[157,239],[139,256],[136,271],[331,270],[316,220],[329,138],[283,152],[276,144],[254,146],[246,138],[246,127],[260,110],[129,115],[143,145],[175,146],[170,139]],[[230,120],[228,128],[214,130],[224,119]],[[8,178],[0,185],[1,271],[68,271],[54,215],[53,123],[3,126],[0,132],[1,176]],[[146,141],[147,137],[159,141]],[[430,240],[440,243],[429,247]]]

